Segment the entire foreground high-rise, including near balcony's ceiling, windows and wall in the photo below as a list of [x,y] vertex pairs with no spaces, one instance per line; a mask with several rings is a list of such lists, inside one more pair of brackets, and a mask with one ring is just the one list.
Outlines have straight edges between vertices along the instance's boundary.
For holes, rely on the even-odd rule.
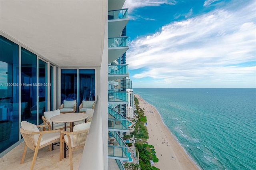
[[80,167],[106,170],[112,158],[123,169],[127,119],[109,105],[128,103],[126,91],[112,91],[128,76],[127,65],[116,64],[129,48],[124,0],[0,3],[0,157],[23,142],[21,121],[40,125],[64,100],[94,100]]

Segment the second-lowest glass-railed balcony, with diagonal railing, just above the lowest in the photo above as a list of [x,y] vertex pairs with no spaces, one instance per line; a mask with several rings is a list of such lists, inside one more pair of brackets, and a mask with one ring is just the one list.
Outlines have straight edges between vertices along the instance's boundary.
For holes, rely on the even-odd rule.
[[126,117],[124,117],[114,109],[108,107],[108,130],[129,132],[128,124],[129,121],[128,119],[126,119]]

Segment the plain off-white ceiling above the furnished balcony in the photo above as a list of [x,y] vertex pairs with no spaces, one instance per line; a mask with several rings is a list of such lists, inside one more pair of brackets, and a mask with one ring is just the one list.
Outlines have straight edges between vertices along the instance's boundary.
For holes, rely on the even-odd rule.
[[0,1],[3,36],[59,67],[100,66],[106,0]]

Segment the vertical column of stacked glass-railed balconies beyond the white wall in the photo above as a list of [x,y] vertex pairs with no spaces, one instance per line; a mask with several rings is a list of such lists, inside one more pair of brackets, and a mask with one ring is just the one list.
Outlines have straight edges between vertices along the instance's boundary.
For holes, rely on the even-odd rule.
[[[113,44],[108,48],[109,56],[113,55],[111,60],[110,57],[108,58],[108,158],[115,160],[118,165],[122,165],[122,160],[129,160],[128,146],[122,138],[124,133],[129,132],[128,119],[124,116],[126,115],[126,104],[128,104],[126,77],[129,74],[128,64],[126,64],[126,50],[128,49],[126,24],[129,19],[128,9],[119,10],[122,6],[118,8],[115,6],[115,8],[117,10],[108,9],[111,15],[108,20],[108,28],[110,29],[112,26],[112,29],[115,30],[115,32],[108,32],[108,40]],[[112,15],[114,19],[112,19]],[[120,45],[122,48],[116,49],[115,45]],[[114,141],[112,141],[113,138]]]

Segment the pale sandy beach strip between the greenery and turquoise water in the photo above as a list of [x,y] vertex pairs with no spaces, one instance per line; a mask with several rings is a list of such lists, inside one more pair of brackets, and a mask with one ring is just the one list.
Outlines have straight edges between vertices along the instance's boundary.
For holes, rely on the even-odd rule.
[[190,160],[168,128],[162,123],[155,107],[144,101],[139,95],[135,94],[135,97],[140,103],[140,108],[144,108],[144,115],[147,117],[148,144],[154,146],[156,156],[159,158],[159,162],[154,163],[154,166],[160,170],[198,170],[196,164]]

